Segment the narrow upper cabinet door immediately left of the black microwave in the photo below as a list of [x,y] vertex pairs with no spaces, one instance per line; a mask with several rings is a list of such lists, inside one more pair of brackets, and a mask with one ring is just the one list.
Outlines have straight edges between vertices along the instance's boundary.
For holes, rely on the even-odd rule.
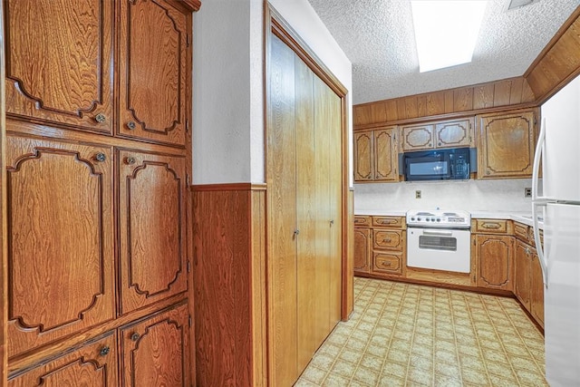
[[399,181],[397,128],[374,131],[374,180]]

